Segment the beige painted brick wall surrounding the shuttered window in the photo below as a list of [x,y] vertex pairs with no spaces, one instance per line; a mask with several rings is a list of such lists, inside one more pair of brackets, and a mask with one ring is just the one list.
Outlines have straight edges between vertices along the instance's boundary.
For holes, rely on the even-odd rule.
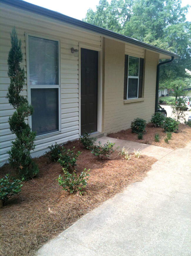
[[[125,43],[104,38],[103,56],[105,63],[102,128],[104,133],[130,128],[131,121],[140,117],[149,122],[155,111],[156,70],[159,54],[145,50],[143,99],[124,103],[124,60]],[[130,53],[131,54],[131,53]],[[133,53],[131,54],[133,56]]]

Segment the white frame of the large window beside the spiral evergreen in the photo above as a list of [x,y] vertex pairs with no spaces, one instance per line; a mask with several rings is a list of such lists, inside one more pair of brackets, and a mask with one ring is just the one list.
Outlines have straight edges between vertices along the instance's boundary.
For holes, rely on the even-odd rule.
[[[29,36],[31,37],[38,37],[42,39],[52,40],[58,42],[58,84],[56,85],[44,85],[44,84],[38,84],[38,85],[30,85],[30,73],[29,73]],[[32,33],[25,33],[25,39],[26,39],[26,70],[27,70],[27,99],[29,101],[29,104],[31,104],[31,89],[45,89],[45,88],[58,88],[58,131],[52,132],[52,133],[45,133],[41,135],[37,135],[36,139],[38,138],[44,138],[48,136],[52,136],[53,134],[61,133],[61,66],[60,66],[60,40],[52,37],[46,37],[43,35],[37,35]],[[28,123],[29,126],[32,129],[32,117],[31,115],[28,117]]]

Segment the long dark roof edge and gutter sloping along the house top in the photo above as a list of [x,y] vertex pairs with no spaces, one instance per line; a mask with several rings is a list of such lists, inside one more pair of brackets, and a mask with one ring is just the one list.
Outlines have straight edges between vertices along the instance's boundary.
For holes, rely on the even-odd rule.
[[144,42],[142,42],[140,40],[137,40],[137,39],[134,39],[132,37],[121,35],[119,33],[113,32],[111,30],[101,28],[101,27],[89,24],[87,22],[83,22],[79,19],[75,19],[75,18],[66,16],[66,15],[61,14],[59,12],[55,12],[55,11],[46,9],[44,7],[41,7],[41,6],[31,4],[31,3],[25,2],[23,0],[0,0],[0,2],[2,2],[3,4],[8,4],[8,5],[17,7],[19,9],[29,11],[29,12],[40,14],[42,16],[46,16],[46,17],[49,17],[49,18],[52,18],[52,19],[56,19],[56,20],[59,20],[61,22],[65,22],[65,23],[68,23],[68,24],[71,24],[71,25],[74,25],[74,26],[77,26],[77,27],[81,27],[83,29],[91,30],[93,32],[100,33],[101,35],[112,37],[112,38],[117,39],[117,40],[122,40],[126,43],[131,43],[131,44],[134,44],[136,46],[143,47],[145,49],[155,51],[157,53],[162,53],[162,54],[165,54],[165,55],[168,55],[168,56],[171,56],[171,57],[174,56],[175,58],[180,58],[180,55],[178,55],[176,53],[172,53],[170,51],[160,49],[156,46],[150,45],[148,43],[144,43]]

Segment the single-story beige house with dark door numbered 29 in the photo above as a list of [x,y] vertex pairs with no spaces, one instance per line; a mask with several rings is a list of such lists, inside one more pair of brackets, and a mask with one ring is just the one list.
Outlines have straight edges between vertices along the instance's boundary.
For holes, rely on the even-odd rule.
[[0,0],[0,22],[1,164],[15,138],[8,123],[14,109],[6,98],[14,26],[26,70],[23,95],[34,107],[28,120],[37,131],[33,156],[84,131],[117,132],[137,117],[148,122],[155,112],[159,59],[179,57],[21,0]]

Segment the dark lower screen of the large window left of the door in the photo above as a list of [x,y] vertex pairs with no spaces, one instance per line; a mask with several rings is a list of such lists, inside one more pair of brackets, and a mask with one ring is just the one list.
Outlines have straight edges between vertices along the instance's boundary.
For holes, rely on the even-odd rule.
[[58,131],[58,88],[31,89],[32,131],[36,135]]

